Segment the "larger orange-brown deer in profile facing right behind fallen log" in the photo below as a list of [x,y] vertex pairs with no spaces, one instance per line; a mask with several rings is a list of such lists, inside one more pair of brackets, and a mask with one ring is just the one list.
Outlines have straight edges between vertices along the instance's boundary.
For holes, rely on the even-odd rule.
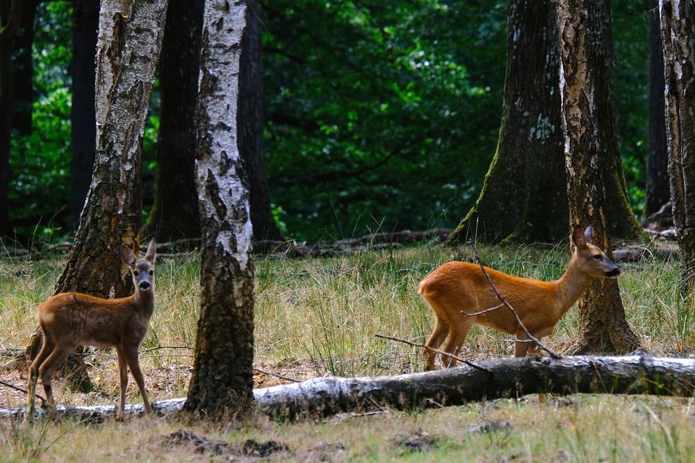
[[[501,271],[487,269],[498,292],[516,310],[521,322],[536,339],[550,335],[555,323],[571,308],[587,289],[591,278],[617,278],[620,269],[606,255],[591,244],[591,226],[582,231],[575,227],[572,234],[575,246],[572,259],[562,278],[557,281],[540,281],[518,278]],[[430,304],[436,321],[427,347],[439,348],[449,335],[445,351],[456,355],[466,340],[473,323],[490,326],[514,335],[514,356],[524,357],[537,351],[533,342],[525,341],[528,335],[518,325],[514,314],[493,292],[489,281],[477,264],[447,262],[434,269],[421,282],[418,292]],[[489,310],[498,307],[495,310]],[[434,370],[434,351],[425,349],[427,370]],[[454,358],[442,361],[449,367],[456,365]]]

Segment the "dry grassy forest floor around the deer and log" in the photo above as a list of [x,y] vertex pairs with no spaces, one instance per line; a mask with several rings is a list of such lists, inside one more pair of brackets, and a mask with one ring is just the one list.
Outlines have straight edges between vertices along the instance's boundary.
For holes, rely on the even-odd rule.
[[[569,244],[480,249],[486,265],[519,276],[553,280],[569,261]],[[461,248],[464,258],[468,249]],[[655,355],[692,357],[695,313],[678,294],[678,261],[647,253],[621,264],[626,317]],[[423,370],[418,348],[377,339],[423,342],[432,313],[418,282],[439,264],[461,257],[432,243],[370,249],[332,258],[268,256],[256,260],[254,382],[256,387],[325,375],[376,376]],[[65,255],[0,260],[0,351],[22,348],[35,328],[35,305],[51,294]],[[157,303],[141,347],[152,401],[184,397],[195,344],[197,253],[160,255]],[[546,344],[563,352],[574,339],[571,310]],[[475,327],[462,355],[471,360],[511,355],[506,335]],[[7,357],[0,357],[0,364]],[[94,389],[71,391],[54,381],[59,403],[115,405],[115,355],[85,356]],[[287,378],[281,379],[279,378]],[[26,371],[0,369],[0,379],[26,386]],[[130,381],[128,403],[142,399]],[[0,389],[0,407],[22,407],[23,394]],[[653,396],[536,396],[438,410],[343,414],[278,423],[256,416],[244,423],[131,418],[124,423],[40,422],[33,428],[0,421],[3,461],[694,461],[692,399]]]

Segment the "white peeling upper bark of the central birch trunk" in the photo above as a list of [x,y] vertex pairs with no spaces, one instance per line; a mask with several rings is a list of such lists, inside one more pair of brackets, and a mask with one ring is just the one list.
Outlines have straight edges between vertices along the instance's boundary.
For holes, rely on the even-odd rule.
[[[246,3],[206,1],[203,51],[199,77],[199,111],[196,160],[197,190],[202,221],[226,221],[216,242],[247,269],[252,254],[252,224],[237,140],[238,74]],[[206,188],[211,181],[218,189]],[[215,197],[213,197],[215,196]],[[222,211],[217,205],[226,206]],[[221,213],[220,213],[221,212]]]

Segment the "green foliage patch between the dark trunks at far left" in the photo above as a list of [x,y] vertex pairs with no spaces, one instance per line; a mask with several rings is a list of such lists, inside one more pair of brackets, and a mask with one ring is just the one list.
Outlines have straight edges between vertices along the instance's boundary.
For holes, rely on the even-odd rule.
[[10,147],[10,220],[17,233],[49,237],[65,230],[70,194],[72,3],[40,3],[33,45],[31,135],[13,134]]

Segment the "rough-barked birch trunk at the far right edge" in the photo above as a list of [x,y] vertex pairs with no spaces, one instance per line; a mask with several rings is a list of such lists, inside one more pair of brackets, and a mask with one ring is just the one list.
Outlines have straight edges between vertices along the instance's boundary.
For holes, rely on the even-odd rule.
[[695,303],[695,33],[689,1],[660,0],[673,224],[682,289]]

